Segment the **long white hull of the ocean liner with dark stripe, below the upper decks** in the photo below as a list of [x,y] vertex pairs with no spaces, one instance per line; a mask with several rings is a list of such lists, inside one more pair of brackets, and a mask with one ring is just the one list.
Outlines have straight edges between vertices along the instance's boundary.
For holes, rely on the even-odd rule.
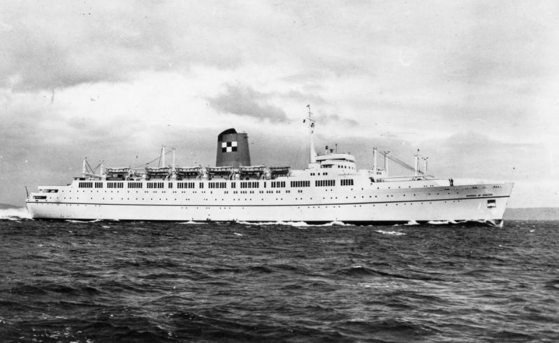
[[[289,180],[289,178],[287,179]],[[75,189],[27,201],[36,219],[153,221],[500,221],[512,184],[460,184],[447,180],[356,184],[355,187],[154,190]],[[447,185],[443,185],[447,182]],[[167,182],[166,182],[167,184]],[[363,186],[363,187],[361,187]],[[413,187],[413,188],[412,188]],[[62,187],[61,187],[62,188]],[[299,193],[298,191],[301,191]],[[158,193],[159,192],[159,193]],[[211,193],[210,193],[211,192]],[[44,193],[38,193],[45,196]]]

